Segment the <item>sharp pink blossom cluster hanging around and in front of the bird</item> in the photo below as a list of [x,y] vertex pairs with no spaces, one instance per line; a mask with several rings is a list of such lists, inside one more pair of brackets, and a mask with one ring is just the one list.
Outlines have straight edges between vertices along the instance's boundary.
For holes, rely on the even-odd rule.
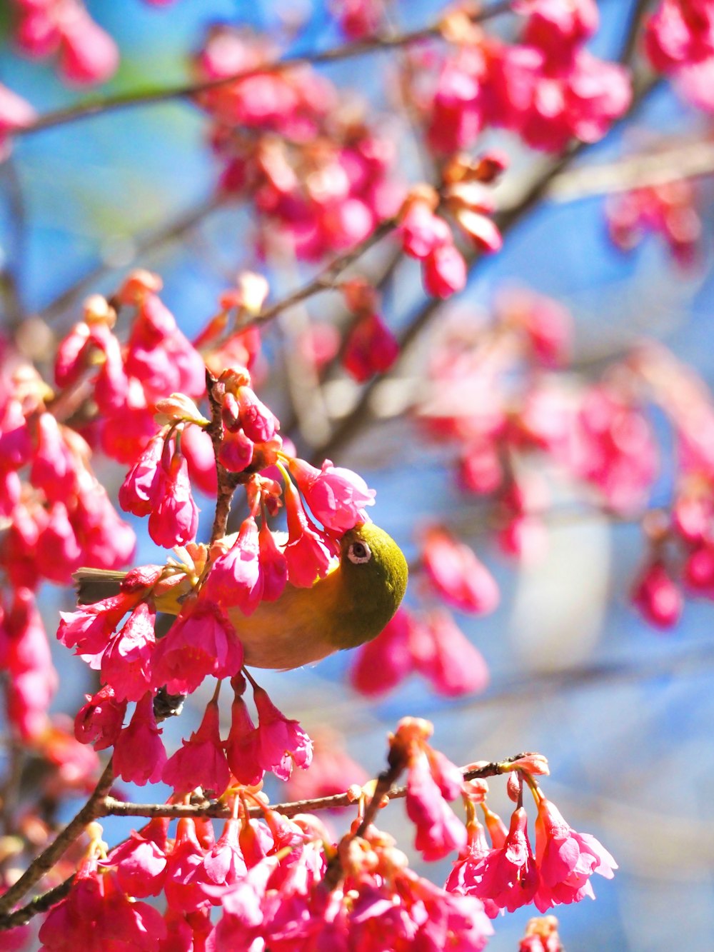
[[[158,298],[147,289],[144,274],[129,278],[125,296],[137,282],[144,293],[140,302],[133,302],[139,313],[129,346],[116,358],[113,369],[114,357],[108,356],[112,351],[102,351],[105,359],[97,376],[90,378],[95,398],[106,395],[107,380],[118,380],[119,390],[126,392],[122,384],[136,356],[132,341],[146,317],[143,306],[149,301],[157,307]],[[94,307],[99,309],[96,301]],[[101,327],[107,330],[106,325]],[[79,325],[62,342],[59,364],[63,370],[75,367],[75,357],[79,360],[86,346],[79,344],[87,334],[91,326]],[[173,346],[167,346],[171,359],[166,367],[180,374],[187,364],[192,367],[181,358],[198,357],[198,353],[177,332],[172,341]],[[97,347],[93,338],[91,347]],[[144,366],[145,383],[151,380],[150,363]],[[162,368],[163,364],[157,367],[157,373]],[[192,377],[188,374],[186,379],[191,382]],[[113,747],[114,767],[124,780],[162,779],[177,792],[189,792],[198,785],[220,796],[231,778],[260,783],[266,770],[271,770],[287,779],[292,764],[305,767],[311,756],[307,735],[251,680],[258,715],[257,726],[252,723],[243,700],[244,649],[233,624],[235,612],[239,618],[249,616],[262,602],[279,599],[286,585],[309,588],[323,578],[339,552],[340,538],[367,520],[365,506],[373,503],[374,491],[350,470],[329,461],[318,469],[285,452],[278,420],[256,396],[245,367],[232,367],[218,379],[211,375],[208,379],[211,419],[186,393],[159,400],[149,423],[155,420],[153,427],[158,423],[160,428],[138,453],[119,490],[120,505],[136,516],[148,516],[151,539],[174,548],[178,560],[133,569],[118,595],[63,613],[57,634],[63,645],[100,673],[100,690],[88,697],[76,719],[78,740],[94,744],[97,750]],[[219,535],[210,545],[195,541],[198,507],[185,448],[191,445],[191,429],[205,435],[215,452],[219,497],[232,495],[237,486],[246,492],[249,514],[238,532]],[[106,442],[106,432],[104,438]],[[285,543],[277,540],[269,525],[281,506],[288,523]],[[157,608],[178,615],[161,639],[155,635]],[[250,657],[245,660],[251,663]],[[228,737],[219,737],[216,695],[199,730],[167,759],[154,699],[164,689],[171,695],[190,694],[208,676],[231,679],[234,700]],[[136,705],[130,717],[128,704]]]

